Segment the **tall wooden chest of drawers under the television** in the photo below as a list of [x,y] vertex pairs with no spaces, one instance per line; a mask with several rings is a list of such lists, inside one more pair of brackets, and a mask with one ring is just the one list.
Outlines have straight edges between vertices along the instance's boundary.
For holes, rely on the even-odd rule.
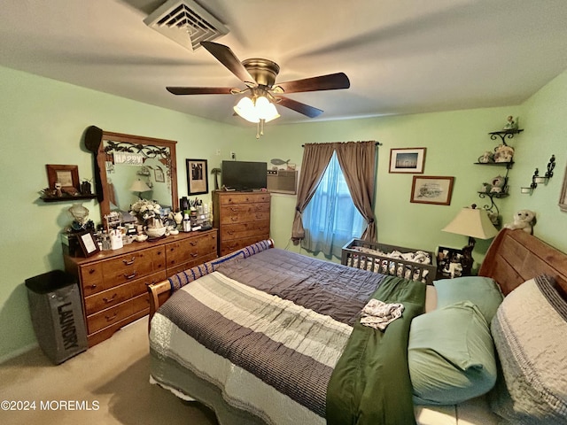
[[214,191],[213,225],[219,229],[219,256],[269,238],[268,192]]

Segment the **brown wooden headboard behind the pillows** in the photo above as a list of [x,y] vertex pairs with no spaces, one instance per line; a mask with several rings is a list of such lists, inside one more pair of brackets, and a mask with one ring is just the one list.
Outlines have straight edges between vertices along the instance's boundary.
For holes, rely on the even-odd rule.
[[504,295],[539,274],[552,276],[567,299],[567,254],[523,230],[507,228],[494,238],[478,270],[498,282]]

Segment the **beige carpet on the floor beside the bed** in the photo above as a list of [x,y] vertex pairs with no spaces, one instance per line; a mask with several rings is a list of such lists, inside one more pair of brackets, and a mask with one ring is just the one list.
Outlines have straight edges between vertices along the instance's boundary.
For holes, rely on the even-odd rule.
[[[19,412],[6,411],[3,405],[0,423],[217,423],[214,413],[206,407],[183,402],[169,391],[151,385],[149,366],[147,318],[58,366],[37,348],[0,365],[0,401],[35,402],[35,410]],[[98,409],[65,408],[65,405],[73,408],[81,404],[98,405]],[[46,410],[45,405],[56,410]]]

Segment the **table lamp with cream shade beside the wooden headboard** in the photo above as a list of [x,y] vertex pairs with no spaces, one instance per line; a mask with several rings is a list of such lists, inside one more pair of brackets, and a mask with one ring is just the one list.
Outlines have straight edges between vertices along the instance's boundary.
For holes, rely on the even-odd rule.
[[445,228],[444,232],[454,233],[456,235],[469,236],[469,244],[462,248],[462,275],[470,276],[473,259],[472,250],[475,247],[475,237],[479,239],[490,239],[498,234],[498,229],[488,217],[488,212],[483,208],[477,208],[477,205],[462,208]]

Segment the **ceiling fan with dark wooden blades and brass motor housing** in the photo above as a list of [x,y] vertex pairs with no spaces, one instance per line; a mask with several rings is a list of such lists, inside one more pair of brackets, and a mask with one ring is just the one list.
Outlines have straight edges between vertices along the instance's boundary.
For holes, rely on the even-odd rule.
[[[240,61],[229,47],[217,42],[201,42],[201,45],[211,53],[222,65],[234,73],[246,85],[246,89],[229,87],[167,87],[174,95],[240,95],[250,91],[252,100],[266,97],[272,104],[280,104],[293,111],[315,118],[322,114],[321,109],[308,104],[302,104],[282,94],[300,93],[306,91],[348,89],[350,81],[345,73],[330,73],[302,80],[278,82],[276,76],[280,67],[268,59],[250,58]],[[236,108],[236,107],[235,107]],[[277,115],[279,116],[279,115]]]

